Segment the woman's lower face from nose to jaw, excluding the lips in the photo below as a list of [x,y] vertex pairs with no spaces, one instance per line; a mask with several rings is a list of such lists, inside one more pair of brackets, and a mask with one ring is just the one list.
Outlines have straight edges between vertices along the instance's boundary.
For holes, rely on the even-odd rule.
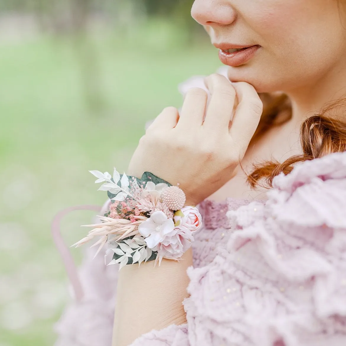
[[312,87],[346,69],[345,9],[340,2],[339,11],[338,0],[195,0],[191,13],[215,45],[261,46],[228,72],[258,92]]

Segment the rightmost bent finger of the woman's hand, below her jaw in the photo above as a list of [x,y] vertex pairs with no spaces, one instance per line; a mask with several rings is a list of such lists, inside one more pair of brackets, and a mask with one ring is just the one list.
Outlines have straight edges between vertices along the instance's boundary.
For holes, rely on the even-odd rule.
[[235,109],[230,136],[235,143],[249,143],[260,121],[263,103],[255,88],[246,82],[232,83],[239,101]]

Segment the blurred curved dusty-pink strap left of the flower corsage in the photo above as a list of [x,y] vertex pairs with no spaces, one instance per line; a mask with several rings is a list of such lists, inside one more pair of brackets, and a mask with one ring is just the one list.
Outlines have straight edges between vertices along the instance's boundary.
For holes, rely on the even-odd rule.
[[60,223],[62,218],[67,215],[68,213],[70,213],[71,211],[74,210],[95,210],[97,212],[101,211],[101,207],[100,206],[76,206],[76,207],[69,207],[66,208],[64,210],[61,210],[60,212],[58,212],[53,221],[52,221],[52,225],[51,225],[51,231],[52,231],[52,236],[53,236],[53,240],[54,243],[62,257],[66,272],[67,272],[67,276],[70,279],[70,282],[72,284],[72,288],[74,291],[74,296],[77,302],[80,302],[83,299],[84,293],[83,293],[83,287],[82,284],[79,280],[78,277],[78,272],[77,272],[77,267],[73,261],[73,257],[71,255],[70,249],[69,247],[65,244],[61,231],[60,231]]

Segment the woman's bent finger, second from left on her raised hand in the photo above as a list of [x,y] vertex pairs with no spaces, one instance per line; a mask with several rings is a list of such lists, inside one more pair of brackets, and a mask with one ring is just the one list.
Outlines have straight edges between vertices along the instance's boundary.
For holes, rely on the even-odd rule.
[[201,88],[191,88],[185,96],[177,128],[201,126],[207,107],[208,94]]

